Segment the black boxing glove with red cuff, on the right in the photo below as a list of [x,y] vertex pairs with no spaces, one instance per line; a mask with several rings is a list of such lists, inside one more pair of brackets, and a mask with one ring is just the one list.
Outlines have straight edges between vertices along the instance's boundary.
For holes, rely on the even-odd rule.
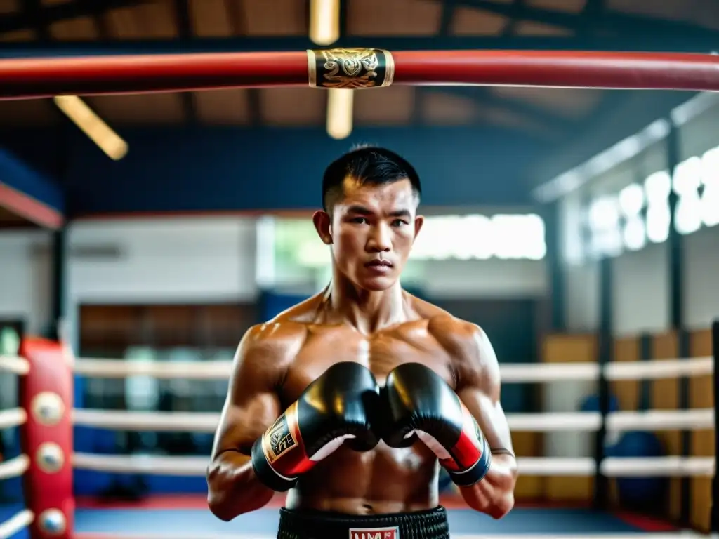
[[384,390],[388,446],[411,445],[413,434],[439,458],[454,484],[480,482],[492,456],[485,436],[467,407],[434,371],[418,363],[396,367]]

